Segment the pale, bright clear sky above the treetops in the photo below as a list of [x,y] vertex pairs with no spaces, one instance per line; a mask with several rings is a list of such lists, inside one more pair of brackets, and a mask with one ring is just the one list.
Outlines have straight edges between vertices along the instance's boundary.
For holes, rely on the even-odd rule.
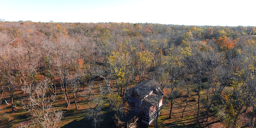
[[0,19],[256,26],[255,0],[0,0]]

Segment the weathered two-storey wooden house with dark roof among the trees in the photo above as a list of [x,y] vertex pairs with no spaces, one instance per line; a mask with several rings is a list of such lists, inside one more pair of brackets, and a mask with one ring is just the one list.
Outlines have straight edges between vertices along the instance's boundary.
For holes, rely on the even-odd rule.
[[157,108],[162,106],[163,93],[159,87],[157,81],[150,79],[130,88],[127,93],[131,108],[140,113],[141,122],[147,125],[154,121]]

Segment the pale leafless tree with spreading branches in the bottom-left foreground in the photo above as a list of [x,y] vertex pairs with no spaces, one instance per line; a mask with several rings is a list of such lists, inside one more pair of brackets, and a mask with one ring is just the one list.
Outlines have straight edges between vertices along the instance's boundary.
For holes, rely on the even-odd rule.
[[53,108],[55,96],[47,97],[49,79],[44,79],[35,85],[26,86],[24,92],[29,95],[22,102],[23,108],[31,113],[32,121],[43,128],[55,128],[62,118],[62,111]]

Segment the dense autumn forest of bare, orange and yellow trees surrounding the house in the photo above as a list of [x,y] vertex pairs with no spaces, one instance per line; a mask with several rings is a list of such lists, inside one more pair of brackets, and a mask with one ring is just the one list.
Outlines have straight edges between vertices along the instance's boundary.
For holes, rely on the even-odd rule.
[[195,127],[209,115],[225,127],[256,127],[255,61],[253,26],[0,22],[0,125],[62,127],[68,110],[83,108],[102,127],[129,112],[127,89],[155,79],[167,120],[182,97],[182,118],[195,103]]

